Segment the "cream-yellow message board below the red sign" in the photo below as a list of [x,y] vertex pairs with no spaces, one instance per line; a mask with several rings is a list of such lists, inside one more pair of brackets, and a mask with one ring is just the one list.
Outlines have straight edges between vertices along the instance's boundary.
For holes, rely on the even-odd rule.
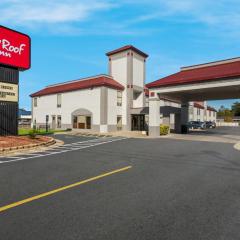
[[18,85],[0,82],[0,101],[17,102]]

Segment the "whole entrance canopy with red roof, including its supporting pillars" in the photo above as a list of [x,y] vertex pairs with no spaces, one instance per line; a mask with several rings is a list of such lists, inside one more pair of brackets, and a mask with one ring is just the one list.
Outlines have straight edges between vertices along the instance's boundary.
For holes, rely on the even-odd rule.
[[159,136],[160,99],[181,103],[175,130],[183,131],[189,118],[189,102],[240,98],[240,58],[181,68],[181,71],[149,83],[149,135]]

